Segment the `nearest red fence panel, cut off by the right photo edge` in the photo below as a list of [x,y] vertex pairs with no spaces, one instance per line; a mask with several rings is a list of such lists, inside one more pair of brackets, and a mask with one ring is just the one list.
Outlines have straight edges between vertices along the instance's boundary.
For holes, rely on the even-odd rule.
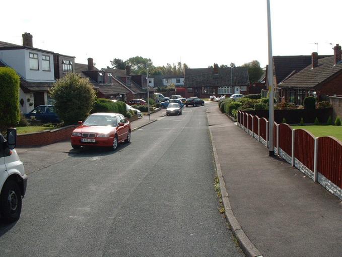
[[342,188],[342,144],[337,139],[318,138],[317,171]]

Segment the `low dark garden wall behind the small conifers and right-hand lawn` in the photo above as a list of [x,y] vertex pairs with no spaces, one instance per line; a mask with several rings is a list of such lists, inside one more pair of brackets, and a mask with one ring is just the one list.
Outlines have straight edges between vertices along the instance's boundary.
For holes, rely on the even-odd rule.
[[[268,110],[242,110],[248,114],[253,116],[258,116],[259,118],[268,119]],[[303,118],[304,123],[314,123],[316,117],[319,122],[325,123],[329,116],[332,117],[332,108],[324,108],[324,109],[314,109],[314,110],[306,110],[306,109],[293,109],[293,110],[275,110],[275,122],[282,123],[283,118],[286,119],[286,123],[288,124],[298,124]]]

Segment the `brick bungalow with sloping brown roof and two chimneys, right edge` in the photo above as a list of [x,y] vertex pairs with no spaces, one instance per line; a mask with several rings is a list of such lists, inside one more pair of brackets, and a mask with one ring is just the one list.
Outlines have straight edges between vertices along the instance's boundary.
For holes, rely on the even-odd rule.
[[303,104],[306,96],[316,96],[319,101],[323,95],[342,95],[341,46],[336,44],[334,55],[318,58],[311,55],[311,64],[278,84],[280,94],[287,102]]

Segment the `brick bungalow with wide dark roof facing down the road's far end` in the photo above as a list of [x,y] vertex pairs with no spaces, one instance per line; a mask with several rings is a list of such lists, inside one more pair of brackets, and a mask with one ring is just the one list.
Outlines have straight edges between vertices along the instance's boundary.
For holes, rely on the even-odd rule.
[[246,67],[185,69],[184,97],[209,98],[211,95],[248,94],[249,77]]

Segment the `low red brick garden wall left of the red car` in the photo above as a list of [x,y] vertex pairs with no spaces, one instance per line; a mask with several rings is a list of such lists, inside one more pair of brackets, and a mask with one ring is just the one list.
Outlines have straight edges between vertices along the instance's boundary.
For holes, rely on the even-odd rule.
[[77,125],[64,126],[59,129],[17,136],[17,146],[44,146],[70,139]]

